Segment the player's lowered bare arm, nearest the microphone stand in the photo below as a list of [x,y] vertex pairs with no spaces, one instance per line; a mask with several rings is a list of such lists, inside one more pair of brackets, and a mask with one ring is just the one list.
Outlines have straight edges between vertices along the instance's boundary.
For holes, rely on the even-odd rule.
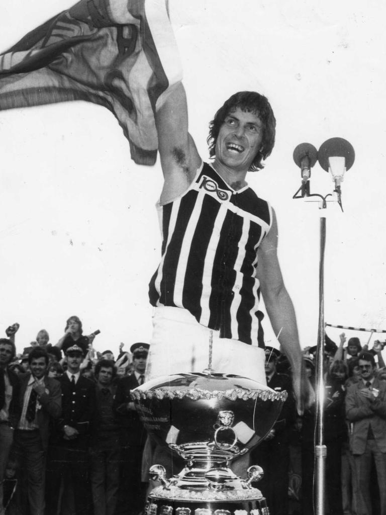
[[257,277],[272,329],[276,335],[280,333],[280,345],[291,364],[297,411],[301,414],[309,402],[309,382],[304,372],[295,311],[277,259],[277,241],[277,222],[273,212],[271,230],[258,250]]

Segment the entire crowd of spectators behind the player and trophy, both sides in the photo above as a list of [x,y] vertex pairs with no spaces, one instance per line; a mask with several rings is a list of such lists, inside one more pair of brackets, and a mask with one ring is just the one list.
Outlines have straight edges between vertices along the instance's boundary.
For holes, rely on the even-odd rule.
[[[149,345],[117,356],[93,348],[70,317],[56,345],[44,329],[16,355],[14,324],[0,338],[0,515],[138,515],[146,433],[130,391],[146,380]],[[97,333],[97,332],[96,332]],[[386,515],[386,369],[376,341],[339,346],[326,335],[326,513]],[[314,390],[316,347],[304,351]],[[273,515],[314,512],[315,404],[296,413],[284,354],[266,347],[267,383],[289,396],[251,461]],[[316,398],[317,392],[315,392]]]

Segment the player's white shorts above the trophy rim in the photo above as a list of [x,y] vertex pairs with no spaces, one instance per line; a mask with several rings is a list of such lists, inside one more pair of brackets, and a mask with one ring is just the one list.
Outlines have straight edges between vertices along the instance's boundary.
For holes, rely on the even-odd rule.
[[267,384],[264,349],[230,338],[219,338],[219,331],[199,324],[187,310],[169,306],[154,308],[147,379],[202,372],[208,368],[210,333],[213,338],[213,372],[241,375]]

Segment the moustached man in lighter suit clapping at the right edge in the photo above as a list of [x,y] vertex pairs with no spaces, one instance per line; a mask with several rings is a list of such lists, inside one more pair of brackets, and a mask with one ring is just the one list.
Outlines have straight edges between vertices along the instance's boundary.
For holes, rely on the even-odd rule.
[[375,377],[370,352],[358,354],[361,381],[348,389],[346,416],[352,422],[350,439],[358,478],[358,515],[371,515],[370,472],[375,461],[380,494],[380,513],[386,515],[386,382]]

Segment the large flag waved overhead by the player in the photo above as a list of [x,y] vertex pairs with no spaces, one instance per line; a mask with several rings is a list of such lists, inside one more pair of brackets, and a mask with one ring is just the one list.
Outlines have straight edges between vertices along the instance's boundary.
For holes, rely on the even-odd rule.
[[181,75],[165,0],[80,0],[0,54],[0,110],[94,102],[152,165],[156,104]]

